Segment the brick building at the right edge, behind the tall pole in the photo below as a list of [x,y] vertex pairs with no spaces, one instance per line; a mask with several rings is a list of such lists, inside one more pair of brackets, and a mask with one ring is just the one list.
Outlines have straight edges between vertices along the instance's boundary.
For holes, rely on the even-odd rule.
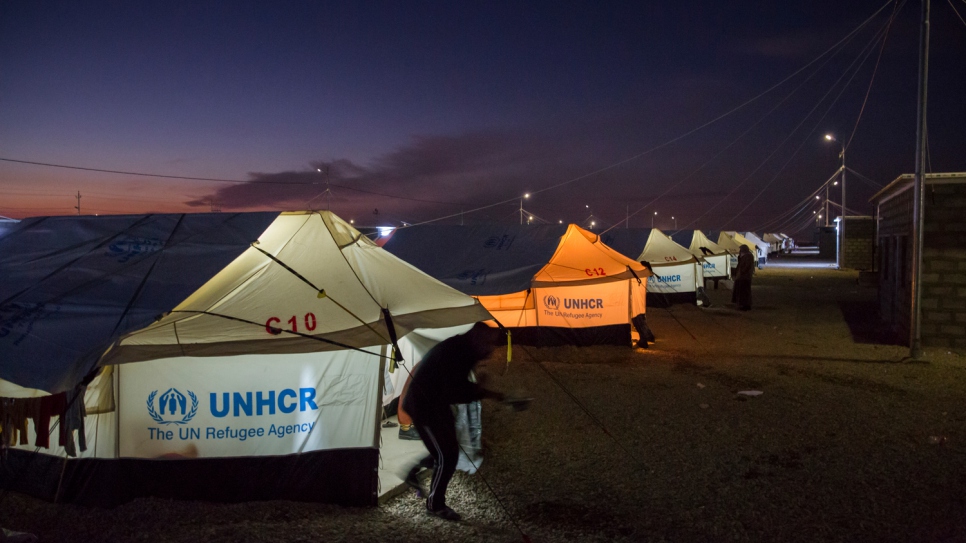
[[[871,200],[877,219],[879,317],[907,344],[913,182],[911,174],[899,176]],[[923,201],[922,344],[966,348],[966,173],[927,174]]]

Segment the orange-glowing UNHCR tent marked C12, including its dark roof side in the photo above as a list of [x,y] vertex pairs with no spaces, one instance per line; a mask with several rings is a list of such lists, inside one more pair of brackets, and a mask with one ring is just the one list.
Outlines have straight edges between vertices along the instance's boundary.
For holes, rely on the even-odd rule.
[[384,247],[477,298],[515,343],[630,345],[632,322],[650,336],[647,268],[577,225],[412,226]]

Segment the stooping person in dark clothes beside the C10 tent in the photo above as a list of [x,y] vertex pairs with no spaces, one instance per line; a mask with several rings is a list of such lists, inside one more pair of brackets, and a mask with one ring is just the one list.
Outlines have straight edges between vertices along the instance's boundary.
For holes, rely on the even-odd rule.
[[446,505],[446,488],[459,461],[456,420],[451,406],[484,398],[504,399],[502,393],[469,380],[470,371],[493,352],[495,339],[495,330],[478,322],[465,334],[436,345],[413,370],[403,400],[403,407],[429,451],[429,456],[409,471],[406,483],[419,490],[416,474],[432,466],[426,509],[445,520],[460,519],[459,513]]

